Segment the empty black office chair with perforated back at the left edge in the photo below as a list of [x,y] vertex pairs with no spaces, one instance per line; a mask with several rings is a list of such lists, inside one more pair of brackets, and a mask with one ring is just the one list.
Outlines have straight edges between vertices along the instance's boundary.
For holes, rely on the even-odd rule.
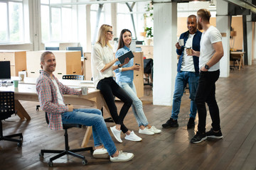
[[[1,120],[10,118],[12,114],[16,114],[14,106],[14,92],[13,91],[0,91],[0,111]],[[3,135],[3,125],[0,121],[0,140],[7,140],[11,142],[18,142],[18,147],[22,146],[23,135],[22,133],[14,135]],[[13,137],[19,137],[19,140],[13,139]]]

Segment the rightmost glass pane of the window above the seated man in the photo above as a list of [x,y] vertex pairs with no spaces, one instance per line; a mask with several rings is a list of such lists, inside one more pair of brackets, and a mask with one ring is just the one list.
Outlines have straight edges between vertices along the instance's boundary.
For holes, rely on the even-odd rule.
[[72,31],[72,13],[71,8],[62,8],[62,29],[63,29],[63,41],[72,40],[73,31]]

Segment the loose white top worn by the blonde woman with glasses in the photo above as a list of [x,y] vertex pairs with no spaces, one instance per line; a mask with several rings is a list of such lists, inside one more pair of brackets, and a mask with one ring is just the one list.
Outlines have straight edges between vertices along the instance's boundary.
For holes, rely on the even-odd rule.
[[92,47],[92,77],[93,82],[95,84],[95,88],[97,87],[98,82],[101,79],[105,79],[106,77],[113,77],[114,73],[112,71],[112,66],[106,69],[104,72],[100,72],[105,67],[105,64],[110,63],[114,60],[114,53],[111,47],[106,45],[102,47],[99,42],[97,42]]

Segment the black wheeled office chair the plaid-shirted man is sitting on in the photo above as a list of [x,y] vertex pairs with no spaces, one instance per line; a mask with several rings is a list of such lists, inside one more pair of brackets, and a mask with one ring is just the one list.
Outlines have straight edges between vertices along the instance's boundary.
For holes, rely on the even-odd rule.
[[[46,123],[49,124],[48,120],[48,114],[46,113]],[[63,124],[63,129],[65,130],[64,137],[65,137],[65,149],[63,150],[52,150],[52,149],[41,149],[41,152],[39,153],[39,157],[43,157],[44,153],[51,153],[51,154],[57,154],[54,157],[51,157],[48,166],[52,167],[53,166],[53,161],[55,159],[58,159],[64,155],[70,154],[73,157],[78,157],[82,159],[82,165],[87,164],[87,160],[85,159],[85,156],[82,156],[81,154],[76,154],[75,152],[82,152],[82,151],[90,151],[91,154],[93,154],[93,149],[92,147],[84,147],[80,149],[70,149],[68,146],[68,129],[69,128],[82,128],[82,125],[78,124]]]

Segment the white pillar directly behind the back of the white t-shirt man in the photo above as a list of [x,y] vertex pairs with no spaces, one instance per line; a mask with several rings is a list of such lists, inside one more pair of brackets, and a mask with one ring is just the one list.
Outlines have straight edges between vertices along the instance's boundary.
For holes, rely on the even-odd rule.
[[228,2],[217,1],[216,27],[223,34],[224,55],[220,60],[220,77],[229,77],[230,74],[230,16],[228,16]]

